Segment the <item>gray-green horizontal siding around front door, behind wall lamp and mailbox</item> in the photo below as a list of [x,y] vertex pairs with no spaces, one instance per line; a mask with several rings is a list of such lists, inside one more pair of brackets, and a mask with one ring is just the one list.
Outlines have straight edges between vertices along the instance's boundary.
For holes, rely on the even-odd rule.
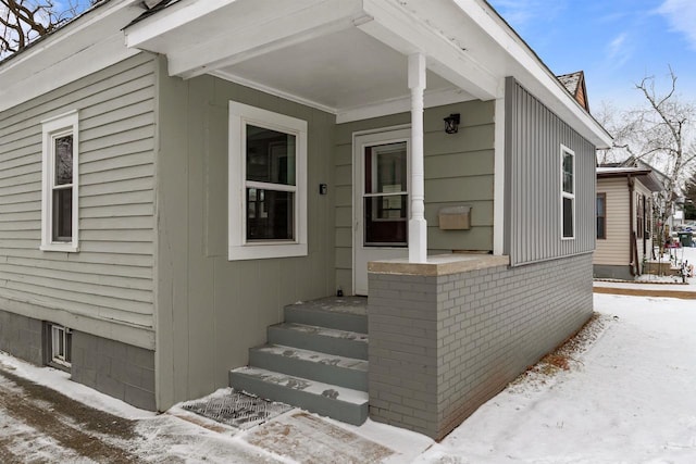
[[[428,254],[493,250],[495,102],[469,101],[424,112],[425,221]],[[457,134],[444,118],[461,115]],[[336,131],[336,283],[352,288],[353,134],[410,125],[410,113],[339,124]],[[438,212],[471,206],[469,230],[440,230]]]

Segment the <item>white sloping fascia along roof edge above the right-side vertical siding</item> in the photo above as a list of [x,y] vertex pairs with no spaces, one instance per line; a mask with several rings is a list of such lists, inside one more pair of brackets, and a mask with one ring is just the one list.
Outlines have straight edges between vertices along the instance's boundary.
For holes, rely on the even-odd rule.
[[[580,129],[583,136],[593,141],[597,148],[611,147],[611,136],[601,125],[589,115],[584,108],[573,99],[558,81],[554,73],[540,61],[540,59],[524,43],[524,41],[482,0],[453,0],[455,3],[519,65],[529,73],[529,76],[514,75],[513,77],[526,87],[537,98],[559,113],[563,118],[572,117],[585,129]],[[525,78],[526,77],[526,78]],[[546,98],[545,98],[546,97]],[[560,104],[554,104],[550,99]],[[577,130],[577,127],[575,127]]]

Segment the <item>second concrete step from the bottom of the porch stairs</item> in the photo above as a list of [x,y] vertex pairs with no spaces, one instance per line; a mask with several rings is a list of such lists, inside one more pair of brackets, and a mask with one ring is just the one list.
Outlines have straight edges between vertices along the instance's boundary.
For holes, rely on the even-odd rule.
[[249,365],[368,391],[368,361],[282,344],[249,350]]

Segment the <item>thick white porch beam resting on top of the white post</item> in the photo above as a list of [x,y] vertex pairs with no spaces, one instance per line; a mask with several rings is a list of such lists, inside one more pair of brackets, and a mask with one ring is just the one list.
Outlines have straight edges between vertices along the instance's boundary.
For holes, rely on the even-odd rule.
[[489,70],[400,3],[364,0],[363,8],[374,17],[359,26],[364,33],[406,55],[425,54],[428,70],[481,100],[498,97],[498,79]]

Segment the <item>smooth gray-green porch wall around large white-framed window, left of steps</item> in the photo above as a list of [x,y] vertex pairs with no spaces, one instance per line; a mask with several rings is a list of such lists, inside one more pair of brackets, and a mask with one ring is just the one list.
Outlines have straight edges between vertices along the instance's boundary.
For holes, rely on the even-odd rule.
[[[283,308],[335,294],[335,116],[213,76],[169,77],[159,63],[158,409],[228,385]],[[308,123],[308,255],[229,261],[229,101]],[[327,184],[327,195],[319,185]],[[238,208],[238,206],[237,206]],[[235,213],[237,214],[237,213]]]

